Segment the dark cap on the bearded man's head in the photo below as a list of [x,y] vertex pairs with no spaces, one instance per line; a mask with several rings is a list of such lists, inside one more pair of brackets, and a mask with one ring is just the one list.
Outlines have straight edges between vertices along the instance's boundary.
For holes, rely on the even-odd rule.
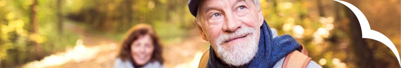
[[196,12],[198,12],[198,5],[200,2],[201,0],[188,0],[189,12],[191,12],[191,14],[195,17],[196,17]]

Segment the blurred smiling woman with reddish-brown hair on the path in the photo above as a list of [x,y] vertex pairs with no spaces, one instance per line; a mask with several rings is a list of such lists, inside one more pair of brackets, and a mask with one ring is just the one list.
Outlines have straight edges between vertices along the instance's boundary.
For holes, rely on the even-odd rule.
[[127,34],[114,68],[163,68],[162,47],[150,25],[138,24]]

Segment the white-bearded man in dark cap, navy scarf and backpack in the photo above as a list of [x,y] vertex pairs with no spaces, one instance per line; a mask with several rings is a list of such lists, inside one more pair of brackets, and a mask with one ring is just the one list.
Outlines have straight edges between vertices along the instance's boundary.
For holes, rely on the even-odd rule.
[[275,37],[259,0],[189,0],[188,8],[202,39],[211,43],[199,67],[321,68],[293,37]]

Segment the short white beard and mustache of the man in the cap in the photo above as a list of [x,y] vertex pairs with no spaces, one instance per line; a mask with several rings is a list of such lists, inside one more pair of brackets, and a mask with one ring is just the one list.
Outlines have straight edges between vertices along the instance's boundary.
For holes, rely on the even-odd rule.
[[[251,34],[248,36],[251,36],[252,39],[244,43],[229,45],[230,47],[221,45],[221,43],[223,43],[227,39],[241,34]],[[256,37],[256,30],[254,28],[244,27],[233,33],[220,35],[215,42],[215,45],[217,47],[214,48],[219,58],[223,60],[223,62],[225,62],[226,64],[233,66],[242,66],[249,63],[249,61],[252,60],[258,50],[258,39]]]

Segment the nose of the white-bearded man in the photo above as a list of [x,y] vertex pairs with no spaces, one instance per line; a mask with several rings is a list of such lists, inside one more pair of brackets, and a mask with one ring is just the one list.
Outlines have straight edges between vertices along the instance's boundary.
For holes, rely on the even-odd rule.
[[241,21],[237,19],[233,14],[226,14],[225,24],[223,25],[223,31],[234,32],[242,26]]

